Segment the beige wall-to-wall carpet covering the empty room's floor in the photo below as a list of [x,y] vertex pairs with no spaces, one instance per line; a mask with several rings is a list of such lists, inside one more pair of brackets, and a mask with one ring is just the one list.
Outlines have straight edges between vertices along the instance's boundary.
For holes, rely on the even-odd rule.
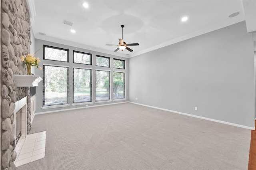
[[36,115],[45,157],[17,170],[247,170],[250,130],[122,103]]

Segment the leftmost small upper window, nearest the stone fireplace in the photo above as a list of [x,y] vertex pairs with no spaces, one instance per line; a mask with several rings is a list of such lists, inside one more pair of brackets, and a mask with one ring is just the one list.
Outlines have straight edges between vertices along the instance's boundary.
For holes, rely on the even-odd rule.
[[44,45],[44,59],[68,62],[68,49]]

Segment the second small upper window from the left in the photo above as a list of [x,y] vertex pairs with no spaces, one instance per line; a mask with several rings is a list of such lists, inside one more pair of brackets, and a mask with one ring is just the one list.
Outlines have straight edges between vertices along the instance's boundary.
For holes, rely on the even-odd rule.
[[92,54],[73,51],[73,63],[92,65]]

